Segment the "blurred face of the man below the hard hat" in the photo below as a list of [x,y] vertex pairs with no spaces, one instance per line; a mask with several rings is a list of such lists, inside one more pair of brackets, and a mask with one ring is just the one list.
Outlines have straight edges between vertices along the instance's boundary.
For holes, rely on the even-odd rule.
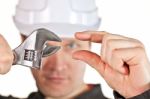
[[72,53],[77,50],[88,50],[89,42],[72,38],[62,39],[61,49],[42,60],[42,69],[32,69],[39,90],[49,97],[64,97],[77,93],[84,83],[85,65],[72,59]]

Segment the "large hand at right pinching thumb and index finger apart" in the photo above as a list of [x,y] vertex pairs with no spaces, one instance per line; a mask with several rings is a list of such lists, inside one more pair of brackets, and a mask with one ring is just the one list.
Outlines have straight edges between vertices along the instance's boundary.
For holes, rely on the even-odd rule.
[[121,95],[129,98],[150,89],[150,62],[140,41],[96,31],[76,33],[75,37],[102,44],[101,56],[80,50],[73,58],[95,68]]

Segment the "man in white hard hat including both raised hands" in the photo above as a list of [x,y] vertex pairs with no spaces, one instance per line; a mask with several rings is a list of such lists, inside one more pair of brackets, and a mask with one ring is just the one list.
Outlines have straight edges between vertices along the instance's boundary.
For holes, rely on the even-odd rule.
[[[79,2],[81,0],[75,1]],[[101,94],[99,87],[96,85],[86,85],[83,82],[85,64],[80,60],[93,66],[104,77],[110,87],[118,92],[115,92],[115,95],[117,95],[116,97],[119,99],[123,97],[135,97],[135,99],[138,99],[139,97],[142,97],[142,95],[149,95],[150,63],[146,56],[143,44],[135,39],[113,35],[107,32],[95,31],[77,33],[75,35],[76,39],[74,39],[72,36],[74,32],[88,29],[91,30],[90,26],[92,27],[92,25],[85,27],[85,23],[90,24],[91,22],[91,24],[96,24],[99,21],[96,16],[93,18],[94,21],[77,21],[77,18],[82,19],[84,17],[88,19],[89,17],[85,17],[86,13],[83,12],[88,12],[87,9],[92,12],[95,7],[93,7],[93,0],[87,0],[88,3],[86,4],[90,5],[86,5],[87,8],[83,7],[82,1],[79,4],[75,1],[72,0],[71,4],[75,4],[73,6],[74,11],[80,12],[80,14],[76,15],[74,12],[66,14],[70,12],[67,0],[49,0],[47,2],[46,0],[30,0],[30,5],[28,0],[20,0],[19,5],[17,6],[18,14],[14,17],[14,20],[22,33],[23,39],[25,39],[32,30],[41,26],[54,31],[63,39],[61,45],[62,49],[56,54],[44,58],[41,70],[32,69],[39,92],[32,93],[28,98],[104,99],[105,97]],[[46,5],[43,2],[46,2],[47,5],[51,4],[51,6],[48,6],[47,8],[42,7]],[[58,2],[61,4],[59,7],[56,6]],[[33,7],[32,4],[35,6]],[[79,5],[79,7],[77,5]],[[53,7],[55,9],[52,9]],[[68,8],[65,9],[66,7]],[[46,10],[41,10],[43,8]],[[51,17],[46,16],[45,14],[46,11],[49,11],[49,8],[49,15],[52,14]],[[81,9],[81,11],[79,9]],[[58,12],[54,11],[54,13],[53,10],[57,10]],[[29,13],[27,13],[28,11]],[[42,17],[43,14],[44,18]],[[71,19],[68,15],[73,15],[76,20],[73,22],[67,21],[67,19]],[[90,14],[88,13],[88,16],[89,15]],[[67,19],[62,20],[65,17]],[[49,21],[51,18],[53,20]],[[41,23],[45,22],[49,22],[50,25],[47,23],[41,25]],[[69,22],[73,24],[68,24]],[[80,24],[80,27],[82,28],[75,27],[82,22],[84,24]],[[75,28],[73,28],[73,26]],[[80,40],[83,40],[84,42]],[[101,56],[87,51],[90,49],[89,42],[102,43]],[[0,73],[3,74],[7,73],[11,68],[14,57],[9,45],[2,36],[0,37],[0,43],[3,47],[0,49],[1,55],[3,55],[3,57],[0,57]],[[73,58],[77,60],[72,59],[72,54]],[[148,99],[148,96],[144,98]]]

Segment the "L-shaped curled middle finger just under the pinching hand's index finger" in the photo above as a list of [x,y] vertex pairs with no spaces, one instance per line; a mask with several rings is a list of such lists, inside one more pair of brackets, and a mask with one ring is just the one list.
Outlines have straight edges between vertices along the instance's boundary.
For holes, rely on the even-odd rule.
[[143,47],[141,43],[134,40],[124,40],[124,39],[111,39],[107,41],[106,51],[105,51],[105,62],[111,65],[112,52],[115,49],[121,48],[134,48],[134,47]]

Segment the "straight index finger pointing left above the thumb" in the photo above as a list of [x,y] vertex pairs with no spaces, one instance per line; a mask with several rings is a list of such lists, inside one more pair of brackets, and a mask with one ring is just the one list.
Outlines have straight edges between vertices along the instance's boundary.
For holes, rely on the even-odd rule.
[[107,32],[98,32],[98,31],[85,31],[85,32],[77,32],[75,37],[79,40],[83,41],[91,41],[95,43],[101,43],[103,36],[108,34]]

